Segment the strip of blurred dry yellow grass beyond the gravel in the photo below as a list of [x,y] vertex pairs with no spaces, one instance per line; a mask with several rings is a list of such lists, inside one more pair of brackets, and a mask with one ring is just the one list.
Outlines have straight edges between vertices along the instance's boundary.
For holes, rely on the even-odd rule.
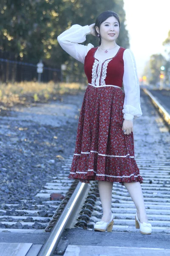
[[60,99],[63,94],[77,94],[85,90],[79,83],[21,82],[0,84],[0,108],[8,109],[14,105],[34,105],[37,102]]

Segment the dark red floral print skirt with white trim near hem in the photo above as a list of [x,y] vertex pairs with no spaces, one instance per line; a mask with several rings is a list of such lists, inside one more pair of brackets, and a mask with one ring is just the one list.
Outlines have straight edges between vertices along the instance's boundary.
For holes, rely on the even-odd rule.
[[76,146],[68,178],[142,183],[134,157],[133,132],[122,131],[125,93],[88,84],[80,111]]

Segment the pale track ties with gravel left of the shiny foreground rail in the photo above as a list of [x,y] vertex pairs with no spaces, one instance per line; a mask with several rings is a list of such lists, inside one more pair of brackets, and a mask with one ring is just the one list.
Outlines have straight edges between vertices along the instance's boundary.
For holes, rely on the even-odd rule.
[[[0,232],[9,231],[12,233],[43,233],[49,222],[53,220],[54,214],[60,207],[67,194],[71,196],[72,190],[77,185],[74,180],[68,180],[68,165],[71,159],[67,159],[62,170],[53,177],[50,183],[37,193],[37,201],[25,201],[20,204],[1,205],[0,209]],[[50,200],[51,193],[59,193],[61,199]],[[41,204],[40,204],[41,203]],[[27,206],[31,205],[31,210]],[[30,207],[29,207],[30,208]]]

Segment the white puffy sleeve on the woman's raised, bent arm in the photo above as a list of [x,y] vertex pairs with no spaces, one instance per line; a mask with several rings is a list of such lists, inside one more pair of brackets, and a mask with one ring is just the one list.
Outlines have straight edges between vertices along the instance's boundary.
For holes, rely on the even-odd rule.
[[88,51],[94,47],[93,44],[79,44],[86,40],[86,35],[91,34],[91,29],[88,25],[80,26],[75,24],[70,29],[65,30],[57,37],[57,41],[69,55],[84,64],[85,56]]

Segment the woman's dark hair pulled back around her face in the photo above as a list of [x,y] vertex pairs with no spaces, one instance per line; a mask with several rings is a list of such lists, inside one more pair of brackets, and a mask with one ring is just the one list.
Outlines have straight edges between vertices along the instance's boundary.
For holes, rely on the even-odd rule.
[[[96,18],[96,22],[95,22],[94,28],[97,26],[97,27],[99,28],[99,31],[100,31],[100,25],[101,25],[105,20],[107,20],[109,17],[112,17],[112,16],[115,17],[116,20],[118,21],[118,23],[119,23],[119,28],[120,28],[119,16],[118,16],[118,14],[117,14],[116,12],[113,12],[113,11],[102,12],[102,13]],[[97,33],[96,29],[94,29],[94,30],[95,30],[95,35],[96,35],[96,37],[100,39],[100,40],[99,40],[99,45],[100,45],[101,42],[102,42],[101,36],[98,37],[98,36],[97,36],[98,33]]]

